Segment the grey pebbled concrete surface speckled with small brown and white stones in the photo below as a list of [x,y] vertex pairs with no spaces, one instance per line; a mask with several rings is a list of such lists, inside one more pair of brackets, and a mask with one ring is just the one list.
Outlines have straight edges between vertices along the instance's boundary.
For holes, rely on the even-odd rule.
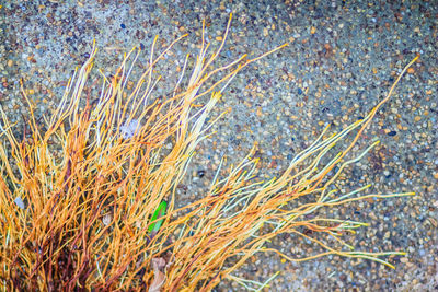
[[[154,35],[160,34],[161,46],[189,33],[169,56],[176,61],[168,68],[170,80],[185,54],[196,51],[203,19],[215,47],[234,13],[221,62],[289,42],[233,80],[216,114],[232,112],[199,148],[180,192],[184,203],[203,196],[221,155],[238,162],[255,141],[262,173],[280,173],[325,122],[339,129],[368,113],[419,52],[420,62],[360,143],[379,139],[381,144],[338,183],[341,189],[372,183],[374,192],[414,190],[417,196],[351,203],[327,214],[371,224],[353,241],[358,249],[408,252],[391,259],[396,269],[338,257],[290,264],[267,254],[239,275],[264,281],[280,270],[270,291],[438,291],[437,1],[170,2],[0,1],[0,105],[21,121],[20,113],[27,113],[19,94],[23,78],[39,115],[49,114],[93,38],[100,48],[95,68],[108,74],[132,46],[145,46],[145,61]],[[292,236],[272,244],[285,253],[312,253]],[[242,288],[223,282],[218,290]]]

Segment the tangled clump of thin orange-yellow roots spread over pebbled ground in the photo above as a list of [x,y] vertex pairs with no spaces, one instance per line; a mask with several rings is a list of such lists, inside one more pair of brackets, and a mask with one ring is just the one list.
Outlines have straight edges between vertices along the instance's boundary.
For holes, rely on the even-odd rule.
[[[176,209],[176,187],[195,147],[209,135],[214,121],[206,118],[224,87],[244,67],[283,47],[251,60],[242,56],[214,69],[223,43],[208,55],[203,38],[189,79],[184,78],[187,56],[173,93],[158,100],[154,89],[160,77],[154,75],[154,68],[180,39],[155,57],[155,38],[149,66],[132,90],[127,89],[127,82],[140,51],[130,51],[112,78],[103,77],[101,94],[92,98],[84,87],[96,54],[93,49],[69,81],[57,110],[45,117],[44,124],[36,121],[23,90],[31,117],[22,138],[13,133],[13,125],[1,110],[3,290],[208,291],[221,279],[260,289],[266,283],[232,275],[260,252],[277,253],[292,261],[339,255],[392,267],[381,257],[403,253],[357,252],[344,242],[345,234],[365,223],[309,219],[308,214],[370,197],[413,195],[358,195],[368,186],[339,195],[331,186],[345,167],[377,144],[345,160],[417,58],[406,66],[388,97],[364,119],[337,133],[328,135],[324,129],[278,178],[254,179],[257,162],[250,153],[229,170],[228,177],[217,175],[203,198]],[[221,78],[214,81],[219,73]],[[199,105],[200,97],[207,95],[208,101]],[[345,149],[323,164],[333,147],[345,143],[347,136],[351,139]],[[169,143],[172,147],[166,150]],[[283,233],[307,238],[324,252],[292,258],[265,247]],[[337,245],[319,234],[328,234]]]

